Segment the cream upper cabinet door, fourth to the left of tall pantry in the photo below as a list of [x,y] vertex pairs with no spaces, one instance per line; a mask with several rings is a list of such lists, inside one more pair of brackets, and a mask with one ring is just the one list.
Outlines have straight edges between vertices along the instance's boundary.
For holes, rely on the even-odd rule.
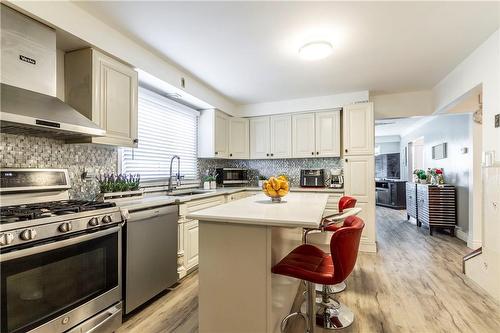
[[250,118],[250,158],[270,157],[270,120],[270,117]]

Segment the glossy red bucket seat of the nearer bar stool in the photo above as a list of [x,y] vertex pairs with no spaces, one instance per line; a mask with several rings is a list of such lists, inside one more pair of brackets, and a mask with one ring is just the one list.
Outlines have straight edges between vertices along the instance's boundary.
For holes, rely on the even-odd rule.
[[276,264],[272,272],[325,285],[344,281],[356,264],[361,232],[365,225],[357,216],[350,216],[348,223],[350,226],[333,234],[330,241],[331,255],[313,245],[303,244]]

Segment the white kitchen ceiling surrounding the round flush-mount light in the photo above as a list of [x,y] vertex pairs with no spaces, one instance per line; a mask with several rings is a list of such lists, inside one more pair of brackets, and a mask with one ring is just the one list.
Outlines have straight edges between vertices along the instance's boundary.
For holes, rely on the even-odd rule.
[[[429,89],[500,21],[498,2],[79,5],[241,104]],[[331,41],[334,54],[301,60],[298,48],[313,39]]]

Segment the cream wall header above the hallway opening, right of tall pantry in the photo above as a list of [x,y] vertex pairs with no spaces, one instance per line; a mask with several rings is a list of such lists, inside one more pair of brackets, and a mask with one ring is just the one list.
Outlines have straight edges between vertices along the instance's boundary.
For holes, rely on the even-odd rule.
[[375,119],[405,118],[431,115],[432,91],[411,91],[398,94],[371,95]]

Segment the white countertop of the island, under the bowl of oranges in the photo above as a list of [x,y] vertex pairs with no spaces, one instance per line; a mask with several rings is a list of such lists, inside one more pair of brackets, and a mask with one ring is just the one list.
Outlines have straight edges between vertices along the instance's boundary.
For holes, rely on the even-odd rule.
[[327,193],[291,192],[280,203],[264,194],[235,200],[188,214],[188,218],[211,222],[278,227],[316,228],[328,200]]

